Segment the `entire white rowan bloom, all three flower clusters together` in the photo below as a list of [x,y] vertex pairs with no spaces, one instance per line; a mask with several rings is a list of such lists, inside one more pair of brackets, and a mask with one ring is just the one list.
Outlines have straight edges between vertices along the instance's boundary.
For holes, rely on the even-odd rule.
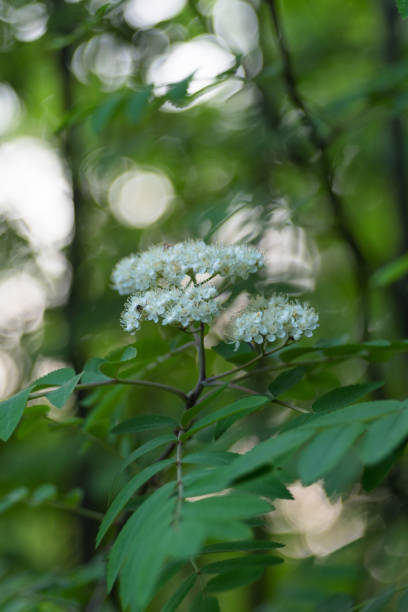
[[[152,246],[129,255],[112,274],[114,288],[121,295],[130,295],[122,327],[135,333],[144,320],[187,330],[196,323],[211,323],[221,309],[211,279],[246,279],[263,265],[261,252],[252,246],[207,245],[200,240]],[[311,336],[317,325],[318,315],[308,304],[280,295],[269,300],[258,297],[234,319],[230,339],[236,345],[275,342],[278,338],[298,340]]]

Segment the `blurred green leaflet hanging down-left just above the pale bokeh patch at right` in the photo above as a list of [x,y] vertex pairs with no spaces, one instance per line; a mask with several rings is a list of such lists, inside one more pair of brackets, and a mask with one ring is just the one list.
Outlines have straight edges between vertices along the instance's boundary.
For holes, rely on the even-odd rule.
[[299,475],[304,485],[328,474],[363,433],[360,423],[340,425],[321,431],[299,456]]

